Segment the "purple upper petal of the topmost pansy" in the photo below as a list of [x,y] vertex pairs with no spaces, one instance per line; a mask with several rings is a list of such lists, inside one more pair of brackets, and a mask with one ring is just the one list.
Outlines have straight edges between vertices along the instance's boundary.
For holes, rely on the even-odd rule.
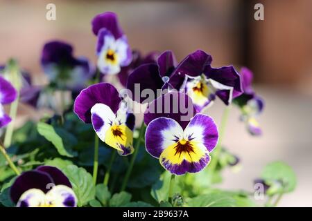
[[94,35],[98,35],[99,30],[102,28],[109,30],[115,39],[119,39],[123,35],[117,15],[114,12],[103,12],[92,19],[92,31]]

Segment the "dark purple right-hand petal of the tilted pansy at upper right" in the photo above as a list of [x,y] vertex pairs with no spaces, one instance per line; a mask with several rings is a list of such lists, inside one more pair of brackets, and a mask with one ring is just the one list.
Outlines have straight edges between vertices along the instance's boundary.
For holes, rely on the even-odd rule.
[[[220,68],[212,68],[207,66],[205,75],[209,79],[214,79],[220,84],[233,87],[232,98],[239,97],[243,93],[241,76],[236,72],[233,66],[223,66]],[[221,90],[217,93],[218,97],[227,104],[229,97],[228,90]]]

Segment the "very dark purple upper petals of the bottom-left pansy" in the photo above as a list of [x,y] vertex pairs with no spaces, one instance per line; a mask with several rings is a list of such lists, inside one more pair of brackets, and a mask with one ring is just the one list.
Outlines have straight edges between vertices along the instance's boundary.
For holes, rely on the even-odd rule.
[[49,191],[49,187],[54,185],[48,173],[40,171],[27,171],[21,173],[10,188],[10,198],[17,203],[21,195],[28,189],[40,189],[44,193]]

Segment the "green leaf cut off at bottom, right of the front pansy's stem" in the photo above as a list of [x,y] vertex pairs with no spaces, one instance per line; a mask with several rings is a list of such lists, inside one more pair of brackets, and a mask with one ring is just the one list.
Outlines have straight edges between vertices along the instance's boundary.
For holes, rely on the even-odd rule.
[[236,201],[228,193],[212,192],[199,195],[187,202],[191,207],[234,207]]

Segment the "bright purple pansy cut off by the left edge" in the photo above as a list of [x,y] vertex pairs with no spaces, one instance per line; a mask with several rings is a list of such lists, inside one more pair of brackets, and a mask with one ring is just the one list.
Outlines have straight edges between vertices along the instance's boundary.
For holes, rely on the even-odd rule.
[[0,76],[0,128],[11,122],[11,118],[4,113],[3,105],[14,102],[16,98],[17,90]]

